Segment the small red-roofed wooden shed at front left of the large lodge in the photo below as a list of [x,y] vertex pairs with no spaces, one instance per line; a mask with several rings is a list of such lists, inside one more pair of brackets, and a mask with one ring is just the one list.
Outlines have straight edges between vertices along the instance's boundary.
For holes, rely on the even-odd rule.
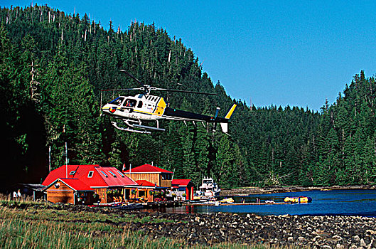
[[95,191],[79,179],[56,179],[43,191],[47,193],[47,201],[53,203],[71,203],[90,205],[94,202]]

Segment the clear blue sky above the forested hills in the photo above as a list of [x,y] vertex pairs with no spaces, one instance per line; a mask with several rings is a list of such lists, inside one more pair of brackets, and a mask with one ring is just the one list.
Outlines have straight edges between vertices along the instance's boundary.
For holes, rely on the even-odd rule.
[[[0,6],[31,1],[2,0]],[[353,76],[376,72],[376,1],[39,1],[124,31],[155,23],[181,38],[237,100],[320,110]]]

